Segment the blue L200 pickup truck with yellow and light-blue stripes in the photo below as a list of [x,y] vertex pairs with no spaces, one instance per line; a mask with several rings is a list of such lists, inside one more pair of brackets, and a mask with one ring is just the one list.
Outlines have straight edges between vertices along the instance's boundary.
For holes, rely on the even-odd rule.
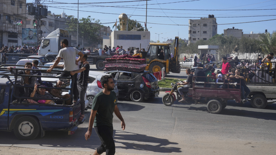
[[73,134],[81,115],[80,102],[72,105],[12,103],[15,79],[0,78],[0,130],[14,131],[20,140],[43,137],[47,130],[65,130]]

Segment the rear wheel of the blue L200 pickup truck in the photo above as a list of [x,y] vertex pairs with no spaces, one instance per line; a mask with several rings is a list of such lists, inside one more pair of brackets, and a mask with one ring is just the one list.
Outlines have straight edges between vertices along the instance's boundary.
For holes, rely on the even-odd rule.
[[32,140],[41,132],[39,122],[30,116],[20,117],[14,125],[14,134],[20,140]]

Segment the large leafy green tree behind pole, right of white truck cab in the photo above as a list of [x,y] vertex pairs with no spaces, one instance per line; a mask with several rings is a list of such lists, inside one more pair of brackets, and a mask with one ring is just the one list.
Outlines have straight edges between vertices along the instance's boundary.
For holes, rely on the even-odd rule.
[[[71,22],[68,23],[68,30],[71,34],[77,32],[77,18],[71,18]],[[95,20],[88,16],[87,18],[81,18],[79,20],[79,37],[83,37],[89,44],[93,44],[98,41],[98,31],[102,27],[100,20]]]

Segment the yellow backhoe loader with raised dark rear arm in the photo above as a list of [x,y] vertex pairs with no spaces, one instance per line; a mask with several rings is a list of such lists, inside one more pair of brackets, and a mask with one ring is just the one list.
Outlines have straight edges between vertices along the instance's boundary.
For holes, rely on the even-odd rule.
[[[171,56],[171,44],[170,43],[153,43],[150,42],[150,46],[147,49],[146,55],[146,68],[147,71],[160,72],[165,67],[165,74],[180,73],[180,65],[178,61],[178,37],[175,37],[174,52]],[[164,56],[161,50],[164,51]]]

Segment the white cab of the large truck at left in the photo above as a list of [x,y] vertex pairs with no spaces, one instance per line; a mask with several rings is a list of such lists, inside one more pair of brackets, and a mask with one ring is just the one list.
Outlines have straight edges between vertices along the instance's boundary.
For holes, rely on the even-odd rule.
[[50,33],[47,37],[42,38],[38,55],[43,55],[49,60],[55,59],[55,57],[59,54],[59,50],[61,49],[60,41],[62,39],[67,39],[68,45],[71,45],[71,36],[69,35],[68,30],[63,30],[60,28]]

